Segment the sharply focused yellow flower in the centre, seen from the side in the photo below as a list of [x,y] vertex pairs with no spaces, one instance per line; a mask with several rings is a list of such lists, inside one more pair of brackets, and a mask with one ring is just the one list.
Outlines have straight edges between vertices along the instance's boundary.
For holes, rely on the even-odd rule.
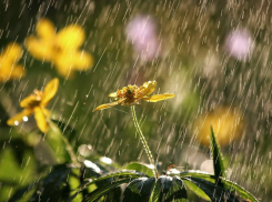
[[144,82],[141,87],[129,84],[128,87],[124,87],[121,90],[118,90],[117,92],[110,93],[109,97],[114,102],[99,105],[93,111],[104,110],[107,108],[111,108],[118,104],[134,105],[139,104],[141,100],[145,100],[148,102],[158,102],[174,97],[174,94],[172,93],[154,94],[152,97],[149,97],[154,91],[155,84],[155,81]]

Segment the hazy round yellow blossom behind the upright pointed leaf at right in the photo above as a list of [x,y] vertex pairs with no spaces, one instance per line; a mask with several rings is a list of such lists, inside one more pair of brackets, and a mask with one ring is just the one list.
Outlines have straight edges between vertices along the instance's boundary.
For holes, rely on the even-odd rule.
[[236,140],[242,134],[243,124],[241,114],[228,108],[219,108],[213,112],[201,115],[194,123],[198,131],[198,140],[205,145],[210,144],[211,129],[220,145],[225,145]]

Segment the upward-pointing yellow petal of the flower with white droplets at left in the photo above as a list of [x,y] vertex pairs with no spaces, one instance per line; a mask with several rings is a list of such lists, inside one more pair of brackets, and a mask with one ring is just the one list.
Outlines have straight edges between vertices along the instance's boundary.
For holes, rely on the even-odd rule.
[[52,79],[44,88],[41,104],[46,107],[48,102],[54,97],[59,88],[59,79]]

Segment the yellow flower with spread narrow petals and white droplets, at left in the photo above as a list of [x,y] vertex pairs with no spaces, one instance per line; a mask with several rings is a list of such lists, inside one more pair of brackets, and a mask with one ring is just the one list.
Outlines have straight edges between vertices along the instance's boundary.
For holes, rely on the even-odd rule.
[[57,93],[58,87],[59,80],[53,79],[46,85],[43,92],[34,90],[33,94],[30,94],[20,102],[21,108],[24,108],[24,110],[9,119],[7,123],[9,125],[18,125],[22,120],[34,113],[34,119],[39,129],[42,132],[47,132],[49,128],[47,121],[49,110],[46,109],[46,107]]

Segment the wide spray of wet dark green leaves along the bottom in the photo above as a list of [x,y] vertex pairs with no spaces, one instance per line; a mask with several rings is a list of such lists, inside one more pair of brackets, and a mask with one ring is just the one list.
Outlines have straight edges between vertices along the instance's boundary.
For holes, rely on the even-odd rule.
[[[189,170],[154,178],[152,169],[144,163],[132,162],[123,170],[109,172],[99,163],[88,160],[81,162],[81,174],[73,174],[79,168],[68,164],[56,165],[51,172],[34,184],[24,186],[11,201],[30,194],[30,200],[54,199],[71,201],[81,195],[82,202],[131,201],[131,202],[187,202],[188,190],[210,201],[239,202],[241,198],[252,202],[258,200],[245,189],[225,179],[225,168],[220,145],[211,128],[211,154],[214,174]],[[71,189],[68,178],[78,179],[78,188]],[[121,185],[124,188],[123,194]]]

